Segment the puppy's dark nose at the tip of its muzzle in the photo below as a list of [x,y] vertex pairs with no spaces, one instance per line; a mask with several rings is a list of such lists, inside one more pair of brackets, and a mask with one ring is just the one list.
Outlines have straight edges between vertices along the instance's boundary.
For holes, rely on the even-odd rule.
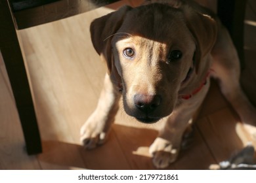
[[160,95],[142,95],[136,94],[134,96],[134,103],[139,110],[148,114],[155,110],[161,104]]

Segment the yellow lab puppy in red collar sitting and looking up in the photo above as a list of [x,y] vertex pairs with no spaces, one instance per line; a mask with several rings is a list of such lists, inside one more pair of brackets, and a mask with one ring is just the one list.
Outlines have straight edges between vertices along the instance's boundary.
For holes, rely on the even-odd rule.
[[86,148],[104,142],[122,96],[125,112],[140,122],[165,121],[150,153],[156,167],[167,167],[177,159],[182,134],[202,104],[210,76],[217,78],[245,127],[253,125],[256,110],[240,87],[236,50],[206,8],[177,0],[125,6],[93,21],[91,39],[108,73],[98,106],[81,128]]

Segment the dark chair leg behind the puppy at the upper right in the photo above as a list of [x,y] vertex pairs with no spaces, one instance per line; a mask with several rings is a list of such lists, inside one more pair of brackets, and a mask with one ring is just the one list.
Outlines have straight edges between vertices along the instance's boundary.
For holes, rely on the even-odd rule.
[[247,0],[218,0],[217,13],[228,29],[238,56],[241,68],[244,65],[244,17]]

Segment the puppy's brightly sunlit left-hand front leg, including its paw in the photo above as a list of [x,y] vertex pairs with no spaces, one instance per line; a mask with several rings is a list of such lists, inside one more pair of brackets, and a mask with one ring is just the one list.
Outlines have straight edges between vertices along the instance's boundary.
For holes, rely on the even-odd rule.
[[106,74],[104,86],[96,110],[81,127],[81,142],[87,149],[102,144],[108,135],[110,126],[114,122],[118,110],[120,94],[117,87]]

